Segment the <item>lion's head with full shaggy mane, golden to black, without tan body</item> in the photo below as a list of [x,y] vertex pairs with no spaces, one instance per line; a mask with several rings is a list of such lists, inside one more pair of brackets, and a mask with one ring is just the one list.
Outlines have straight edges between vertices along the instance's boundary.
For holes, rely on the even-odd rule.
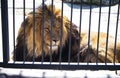
[[62,17],[61,10],[54,5],[40,6],[22,22],[13,58],[15,61],[68,61],[69,35],[73,57],[79,44],[77,26]]

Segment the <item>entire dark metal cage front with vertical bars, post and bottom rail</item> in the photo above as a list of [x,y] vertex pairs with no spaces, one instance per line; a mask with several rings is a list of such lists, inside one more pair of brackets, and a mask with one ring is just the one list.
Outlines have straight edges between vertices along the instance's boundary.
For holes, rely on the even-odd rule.
[[[53,7],[53,2],[54,0],[51,1],[52,3],[52,7]],[[92,0],[90,0],[90,2],[92,2]],[[105,56],[105,63],[98,63],[98,60],[96,59],[96,63],[89,63],[89,61],[87,61],[86,63],[80,63],[80,59],[78,58],[78,62],[76,63],[71,63],[71,43],[72,43],[72,39],[71,39],[71,32],[72,32],[72,15],[73,15],[73,0],[71,0],[71,13],[70,13],[70,35],[69,35],[69,46],[68,46],[68,61],[66,61],[66,63],[62,62],[62,45],[60,45],[60,54],[59,54],[59,61],[53,62],[52,61],[52,51],[50,51],[50,60],[49,62],[44,62],[44,51],[42,51],[42,59],[41,62],[36,63],[35,62],[35,58],[33,56],[32,58],[32,62],[26,62],[25,61],[25,47],[23,48],[23,62],[18,62],[16,63],[16,61],[14,60],[13,63],[9,63],[9,32],[8,32],[8,4],[7,4],[7,0],[1,0],[1,16],[2,16],[2,39],[3,39],[3,62],[0,63],[0,66],[2,67],[6,67],[6,68],[35,68],[35,69],[63,69],[63,70],[77,70],[77,69],[86,69],[86,70],[119,70],[120,69],[120,65],[115,63],[115,56],[114,56],[114,63],[107,63],[106,59],[107,59],[107,48],[108,48],[108,36],[109,36],[109,23],[110,23],[110,12],[111,12],[111,6],[109,6],[109,13],[108,13],[108,24],[107,24],[107,37],[106,37],[106,56]],[[110,1],[111,4],[111,1]],[[13,0],[13,39],[14,39],[14,51],[15,51],[15,1]],[[42,6],[45,5],[44,0],[42,0]],[[80,26],[79,26],[79,31],[81,31],[81,20],[82,20],[82,1],[81,1],[81,8],[80,8]],[[99,34],[100,34],[100,24],[101,24],[101,0],[100,0],[100,8],[99,8],[99,24],[98,24],[98,40],[97,40],[97,51],[99,49]],[[63,17],[63,1],[62,1],[62,14],[61,17]],[[42,32],[44,34],[44,7],[42,7],[43,9],[43,13],[42,13]],[[119,0],[119,5],[118,5],[118,12],[117,12],[117,21],[116,21],[116,33],[115,33],[115,46],[114,46],[114,52],[116,53],[116,43],[117,43],[117,32],[118,32],[118,21],[119,21],[119,9],[120,9],[120,0]],[[91,33],[91,16],[92,16],[92,5],[90,5],[90,14],[89,14],[89,30],[88,30],[88,52],[87,55],[90,54],[90,33]],[[52,15],[51,17],[51,31],[52,31],[52,24],[54,17]],[[61,19],[62,20],[62,19]],[[25,0],[23,0],[23,21],[25,21]],[[63,22],[61,22],[63,23]],[[62,24],[61,24],[62,25]],[[33,46],[35,46],[35,0],[33,0]],[[62,31],[60,32],[62,36]],[[81,32],[79,32],[79,34],[81,34]],[[25,25],[24,25],[24,41],[25,41]],[[52,32],[50,32],[50,38],[52,38]],[[42,40],[44,40],[44,37],[42,35]],[[50,40],[50,50],[52,49],[52,39]],[[43,41],[42,41],[43,42]],[[79,40],[80,42],[80,40]],[[24,42],[25,43],[25,42]],[[43,49],[44,43],[42,43],[42,49]],[[79,45],[79,47],[81,47]],[[78,49],[80,50],[80,48]],[[34,51],[35,48],[33,48],[33,55],[34,55]],[[98,52],[96,54],[96,58],[98,57]],[[16,59],[16,54],[14,52],[14,59]]]

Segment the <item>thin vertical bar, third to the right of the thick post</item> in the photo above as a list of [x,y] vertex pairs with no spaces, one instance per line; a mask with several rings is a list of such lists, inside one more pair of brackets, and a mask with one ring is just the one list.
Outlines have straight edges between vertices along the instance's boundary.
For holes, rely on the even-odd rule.
[[35,61],[35,0],[33,0],[33,64]]

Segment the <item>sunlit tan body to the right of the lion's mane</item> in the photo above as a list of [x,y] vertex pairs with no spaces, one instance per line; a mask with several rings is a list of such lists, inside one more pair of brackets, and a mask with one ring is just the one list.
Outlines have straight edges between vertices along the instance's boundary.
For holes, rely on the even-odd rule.
[[[115,54],[115,62],[120,62],[120,42],[117,41],[116,44],[116,53],[114,49],[115,40],[114,37],[109,36],[108,37],[108,47],[106,50],[106,33],[101,32],[99,35],[99,46],[98,46],[98,58],[97,58],[97,40],[98,40],[98,33],[97,32],[91,32],[90,35],[90,47],[89,47],[89,55],[87,55],[87,49],[88,49],[88,33],[82,32],[81,34],[81,43],[80,45],[84,48],[81,50],[81,57],[82,62],[89,61],[89,62],[114,62],[114,54]],[[87,44],[87,45],[86,45]],[[106,57],[107,52],[107,58]],[[88,60],[87,60],[88,59]],[[97,60],[96,60],[97,59]]]

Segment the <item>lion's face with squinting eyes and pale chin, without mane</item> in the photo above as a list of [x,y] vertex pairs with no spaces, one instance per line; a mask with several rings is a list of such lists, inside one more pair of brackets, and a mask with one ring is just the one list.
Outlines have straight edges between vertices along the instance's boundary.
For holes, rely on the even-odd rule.
[[64,45],[66,39],[67,29],[64,24],[61,25],[61,19],[54,18],[53,21],[47,19],[44,22],[44,45],[48,51],[52,50],[56,52],[60,43],[62,43],[61,45]]

